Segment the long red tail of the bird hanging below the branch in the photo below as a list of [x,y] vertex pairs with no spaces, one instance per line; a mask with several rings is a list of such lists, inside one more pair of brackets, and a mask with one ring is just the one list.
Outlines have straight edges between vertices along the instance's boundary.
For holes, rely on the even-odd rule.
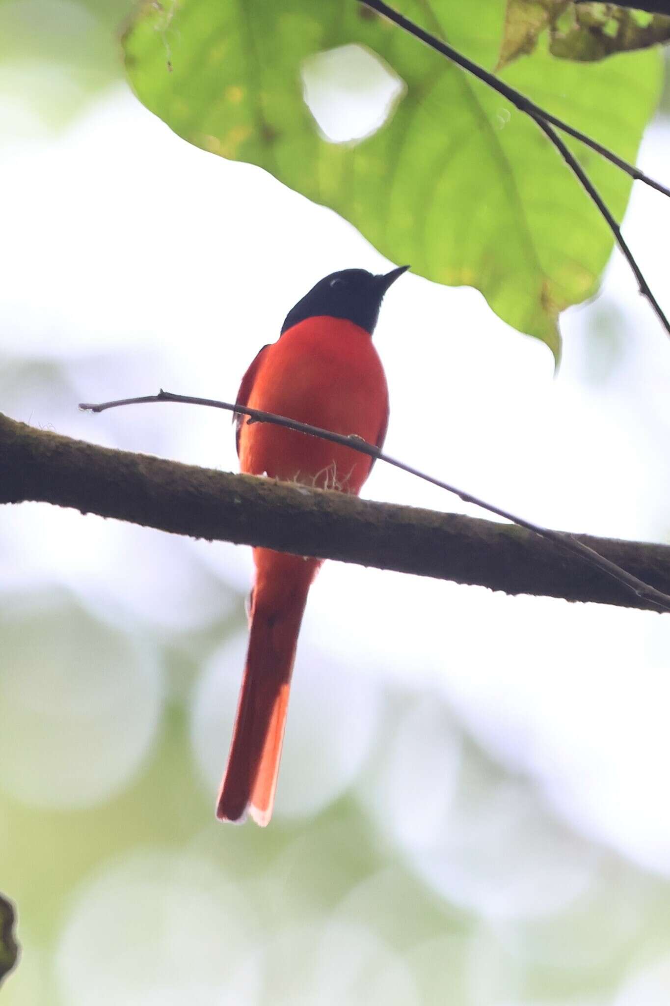
[[216,812],[222,821],[243,821],[248,812],[263,827],[272,816],[295,648],[316,565],[295,556],[277,560],[281,566],[288,560],[290,569],[263,570],[270,574],[256,579],[249,648]]

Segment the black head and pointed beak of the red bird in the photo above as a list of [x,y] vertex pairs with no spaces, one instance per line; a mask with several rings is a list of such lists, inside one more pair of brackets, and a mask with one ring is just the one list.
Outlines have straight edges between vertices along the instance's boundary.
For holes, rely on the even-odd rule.
[[330,273],[288,312],[282,333],[306,318],[327,315],[329,318],[353,321],[372,334],[385,293],[409,268],[401,266],[384,276],[375,276],[365,269],[344,269],[341,273]]

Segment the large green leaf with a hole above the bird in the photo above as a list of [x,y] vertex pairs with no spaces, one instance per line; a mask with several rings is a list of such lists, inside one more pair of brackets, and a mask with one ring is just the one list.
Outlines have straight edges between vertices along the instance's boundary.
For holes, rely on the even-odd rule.
[[[397,5],[471,58],[495,65],[499,0]],[[404,81],[395,114],[359,143],[329,143],[305,105],[300,70],[357,43]],[[612,237],[527,117],[356,0],[181,0],[142,6],[126,38],[140,100],[180,136],[257,164],[354,223],[393,262],[479,289],[510,325],[557,358],[559,313],[591,296]],[[539,45],[505,78],[633,160],[658,99],[655,53],[557,60]],[[630,179],[579,151],[621,216]]]

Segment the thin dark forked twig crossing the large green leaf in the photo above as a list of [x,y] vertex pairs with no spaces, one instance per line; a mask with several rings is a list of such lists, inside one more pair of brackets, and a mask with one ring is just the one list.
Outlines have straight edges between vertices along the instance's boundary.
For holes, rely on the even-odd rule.
[[582,171],[577,159],[573,157],[573,155],[570,153],[566,145],[563,143],[562,140],[560,140],[560,138],[556,136],[554,130],[551,129],[551,127],[555,126],[556,129],[560,129],[564,133],[568,133],[570,136],[575,137],[576,140],[580,140],[582,143],[585,143],[588,147],[591,147],[599,154],[602,154],[603,157],[607,158],[609,161],[612,161],[613,164],[616,164],[617,167],[621,168],[632,178],[636,178],[639,181],[646,182],[647,185],[651,185],[653,188],[658,189],[658,191],[663,192],[664,195],[670,195],[670,189],[666,188],[665,185],[661,185],[659,182],[654,181],[652,178],[649,178],[642,171],[639,171],[634,165],[628,164],[626,161],[623,161],[615,153],[613,153],[611,150],[608,150],[607,147],[603,147],[601,144],[597,143],[590,136],[587,136],[585,133],[581,133],[579,130],[576,130],[572,126],[569,126],[568,123],[565,123],[562,119],[557,119],[555,116],[552,116],[544,109],[541,109],[538,105],[535,105],[534,102],[531,102],[529,98],[526,98],[520,92],[515,91],[513,88],[510,88],[509,85],[503,83],[503,81],[498,79],[498,77],[495,76],[493,73],[489,73],[482,66],[479,66],[475,62],[472,62],[471,59],[468,59],[466,56],[462,55],[462,53],[458,52],[457,49],[452,48],[451,45],[448,45],[446,42],[443,42],[435,35],[431,35],[430,32],[424,31],[424,29],[419,27],[418,24],[415,24],[414,21],[410,21],[409,18],[405,17],[403,14],[399,14],[397,11],[393,10],[392,7],[389,7],[388,4],[384,3],[384,0],[359,0],[359,2],[362,3],[365,7],[369,7],[371,10],[375,10],[379,14],[383,14],[385,17],[388,17],[389,20],[394,22],[394,24],[397,24],[399,27],[409,32],[409,34],[414,35],[415,38],[418,38],[422,42],[425,42],[426,45],[429,45],[432,49],[435,49],[437,52],[440,52],[443,56],[446,56],[447,59],[450,59],[452,62],[455,62],[458,66],[461,66],[469,73],[472,73],[474,76],[477,77],[477,79],[482,80],[484,83],[487,83],[489,88],[492,88],[494,91],[497,91],[498,94],[502,95],[504,98],[507,99],[507,101],[511,102],[512,105],[514,105],[514,107],[519,110],[519,112],[525,113],[527,116],[529,116],[537,123],[540,129],[543,130],[546,137],[550,140],[550,142],[554,145],[554,147],[556,147],[562,156],[566,158],[570,166],[576,172],[578,178],[586,188],[593,202],[595,203],[596,208],[601,213],[608,227],[614,234],[617,243],[623,250],[626,260],[631,269],[633,270],[635,278],[638,281],[640,292],[649,300],[654,311],[656,312],[659,321],[663,325],[666,333],[670,335],[670,322],[668,322],[668,319],[665,317],[656,298],[653,296],[651,292],[649,284],[645,280],[638,264],[633,258],[632,253],[630,252],[624,239],[622,238],[621,230],[619,229],[617,221],[612,216],[612,213],[610,213],[609,209],[601,199],[600,195],[598,194],[593,184],[589,181],[586,174]]

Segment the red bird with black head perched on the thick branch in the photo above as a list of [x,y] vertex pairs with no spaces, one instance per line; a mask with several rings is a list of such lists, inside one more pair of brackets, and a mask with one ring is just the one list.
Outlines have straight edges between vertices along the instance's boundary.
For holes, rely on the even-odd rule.
[[[288,312],[276,342],[247,369],[236,404],[275,412],[381,448],[389,392],[372,335],[384,295],[410,267],[375,275],[346,269],[324,277]],[[358,495],[374,459],[285,427],[236,416],[242,472]],[[217,817],[270,821],[288,692],[316,558],[253,549],[249,642]]]

